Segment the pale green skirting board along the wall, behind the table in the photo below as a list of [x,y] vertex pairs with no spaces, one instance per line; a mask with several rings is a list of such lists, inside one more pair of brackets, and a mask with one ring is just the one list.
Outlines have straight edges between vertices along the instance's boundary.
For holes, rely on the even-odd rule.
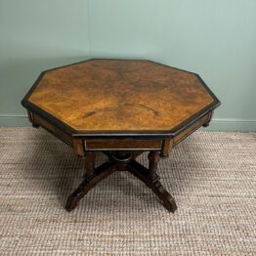
[[[0,127],[19,127],[29,125],[29,121],[25,115],[0,115]],[[256,120],[238,118],[213,118],[210,126],[202,129],[207,131],[256,132]]]

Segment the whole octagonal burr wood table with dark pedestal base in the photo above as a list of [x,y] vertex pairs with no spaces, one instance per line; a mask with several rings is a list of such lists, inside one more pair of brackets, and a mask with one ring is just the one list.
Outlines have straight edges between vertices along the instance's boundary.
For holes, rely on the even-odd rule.
[[[85,158],[79,200],[114,171],[143,181],[171,212],[177,209],[156,174],[157,162],[200,126],[219,100],[199,75],[149,61],[89,60],[44,71],[21,102],[43,127]],[[108,156],[95,168],[95,151]],[[149,169],[136,157],[149,151]]]

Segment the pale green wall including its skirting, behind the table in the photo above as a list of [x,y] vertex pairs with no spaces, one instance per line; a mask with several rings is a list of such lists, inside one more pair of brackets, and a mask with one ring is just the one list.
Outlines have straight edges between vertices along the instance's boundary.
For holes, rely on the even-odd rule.
[[28,125],[40,71],[97,57],[197,72],[222,102],[209,129],[256,130],[255,0],[0,0],[0,126]]

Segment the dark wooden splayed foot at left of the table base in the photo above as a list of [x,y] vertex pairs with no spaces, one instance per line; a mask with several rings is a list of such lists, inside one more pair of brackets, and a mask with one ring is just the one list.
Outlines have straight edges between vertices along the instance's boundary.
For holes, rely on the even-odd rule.
[[[90,157],[94,159],[94,157],[92,155]],[[89,169],[88,169],[89,172],[86,173],[85,179],[80,184],[80,186],[68,196],[66,204],[65,204],[65,209],[67,211],[73,210],[77,206],[79,200],[81,198],[83,198],[87,192],[89,192],[99,182],[101,182],[102,180],[107,178],[108,175],[110,175],[112,172],[115,171],[115,169],[113,168],[114,163],[109,162],[109,161],[100,165],[96,169],[90,169],[90,168],[92,168],[93,165],[94,164],[92,164],[92,163],[90,164],[88,162],[87,167],[89,166]]]

